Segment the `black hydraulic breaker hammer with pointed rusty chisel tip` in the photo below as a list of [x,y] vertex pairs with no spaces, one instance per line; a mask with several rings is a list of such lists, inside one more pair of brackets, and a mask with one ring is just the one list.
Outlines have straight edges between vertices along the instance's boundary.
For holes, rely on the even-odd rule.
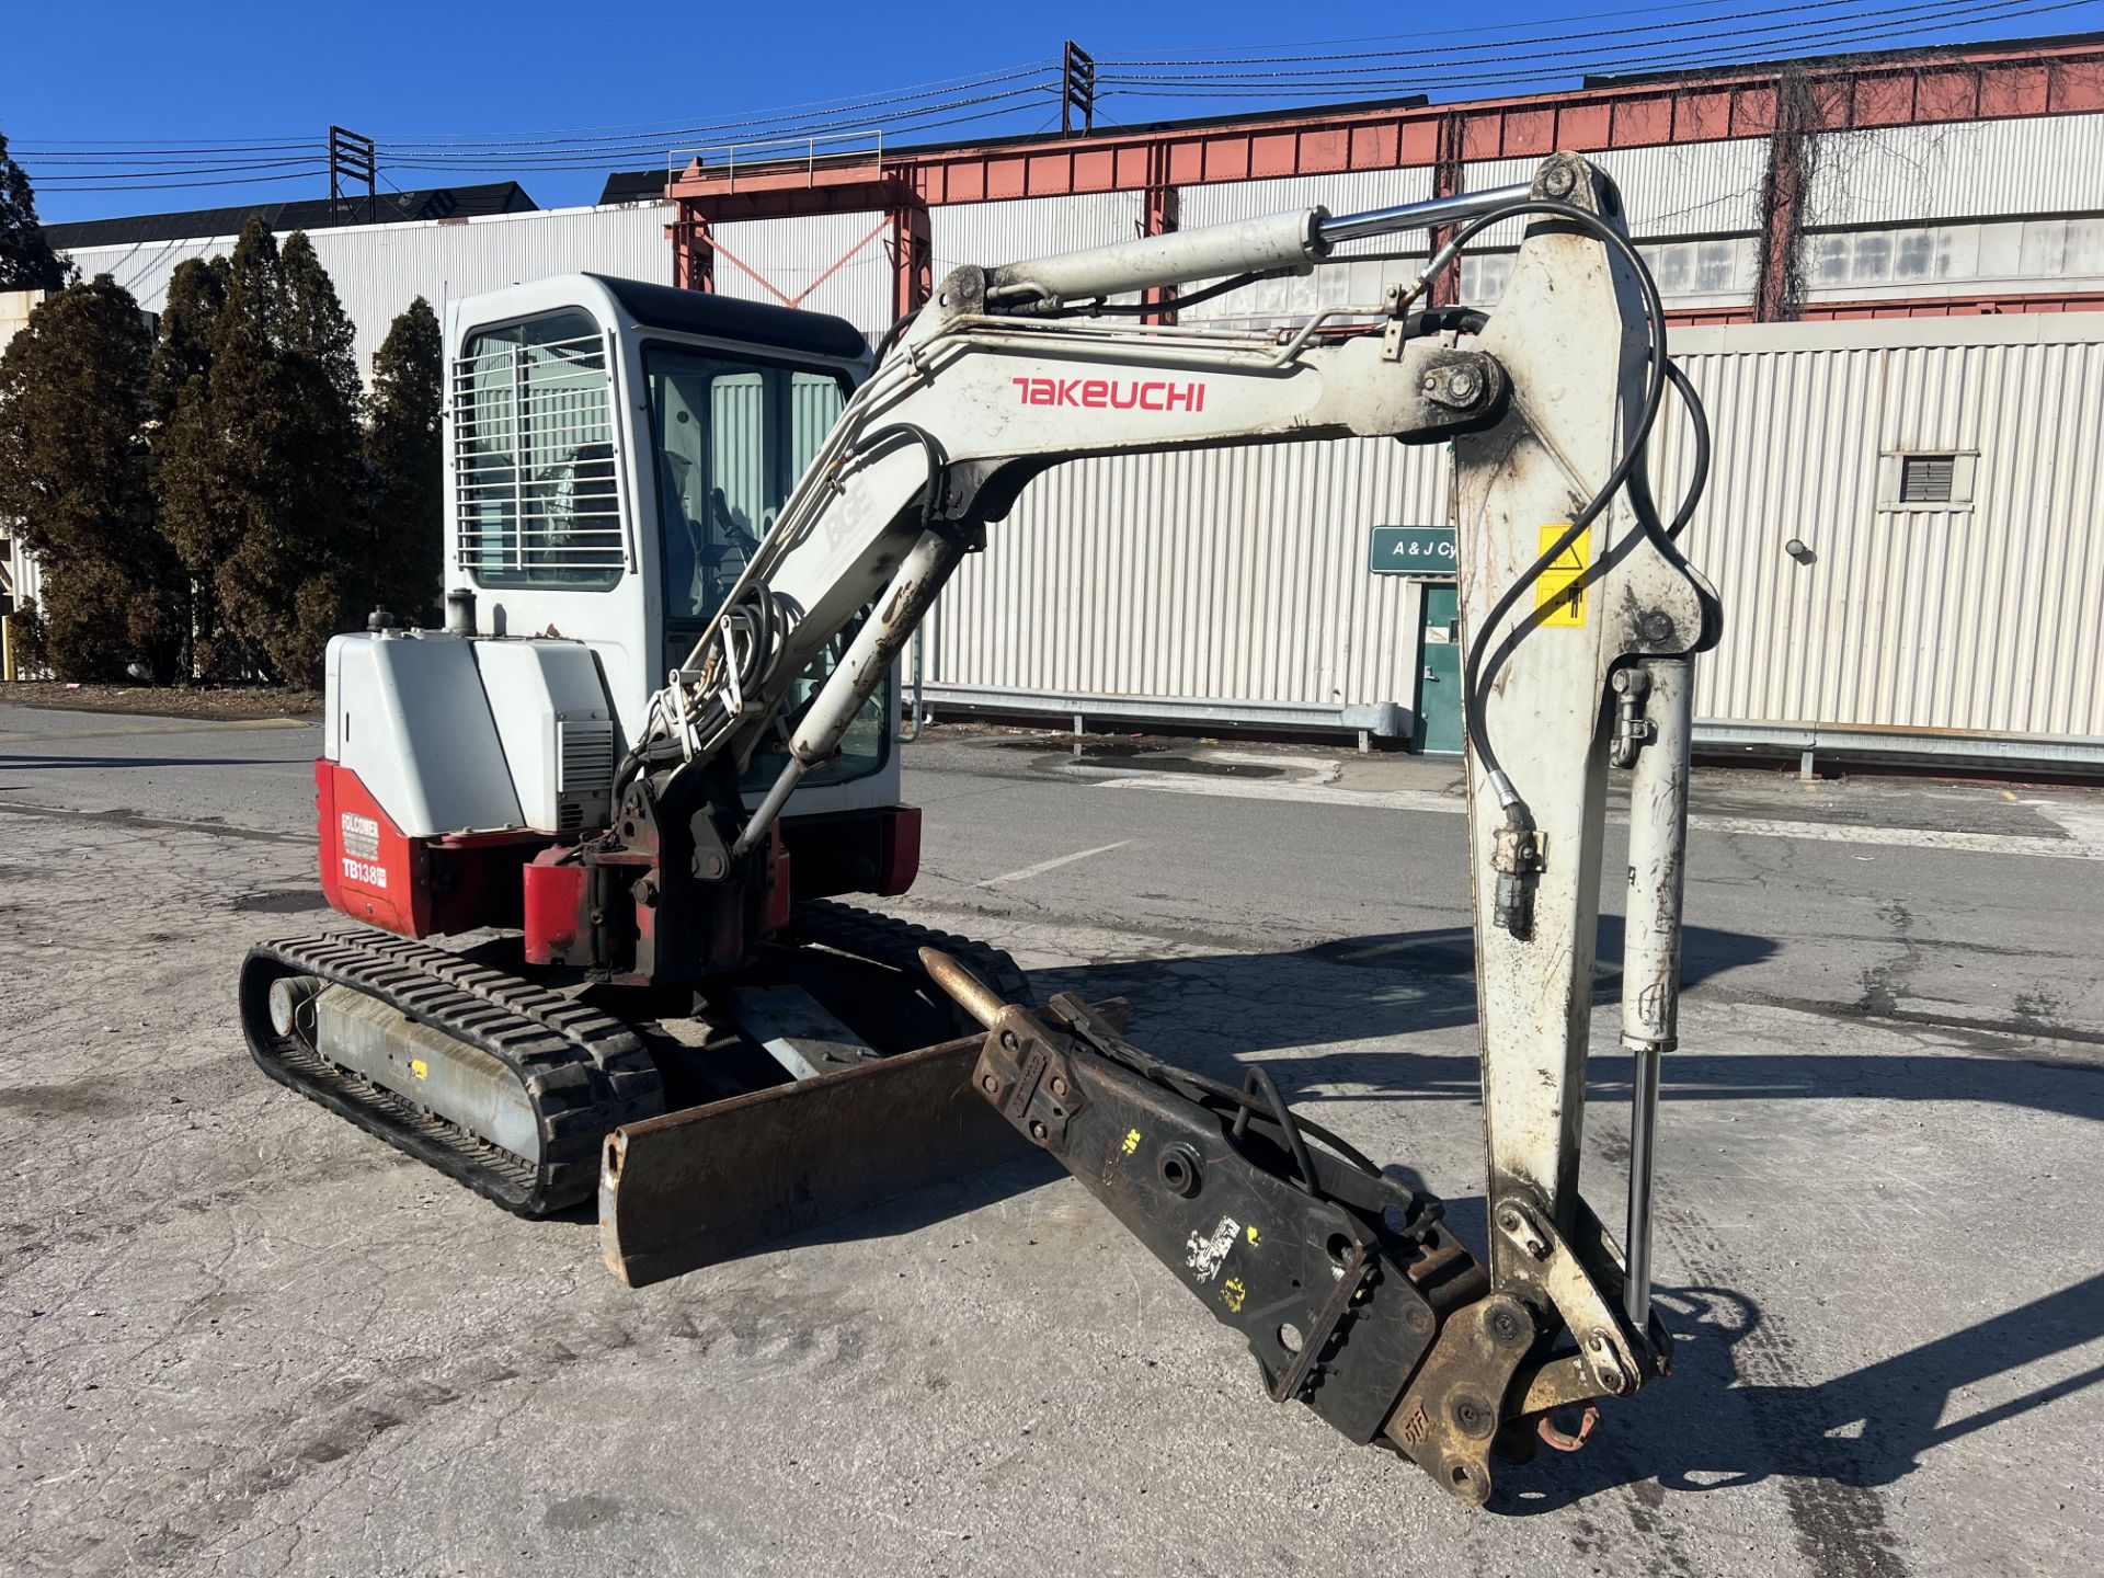
[[[934,949],[922,964],[987,1027],[978,1094],[1241,1332],[1273,1401],[1302,1401],[1353,1441],[1410,1456],[1439,1448],[1431,1431],[1397,1435],[1405,1393],[1435,1347],[1448,1349],[1437,1340],[1456,1313],[1490,1302],[1483,1330],[1513,1349],[1509,1361],[1492,1355],[1500,1380],[1485,1384],[1477,1344],[1445,1365],[1488,1452],[1536,1328],[1519,1300],[1485,1300],[1483,1269],[1443,1225],[1441,1201],[1296,1117],[1262,1069],[1235,1088],[1147,1056],[1073,995],[1039,1018]],[[1452,1414],[1445,1399],[1433,1405]],[[1481,1454],[1458,1479],[1450,1456],[1418,1460],[1450,1494],[1488,1498]]]

